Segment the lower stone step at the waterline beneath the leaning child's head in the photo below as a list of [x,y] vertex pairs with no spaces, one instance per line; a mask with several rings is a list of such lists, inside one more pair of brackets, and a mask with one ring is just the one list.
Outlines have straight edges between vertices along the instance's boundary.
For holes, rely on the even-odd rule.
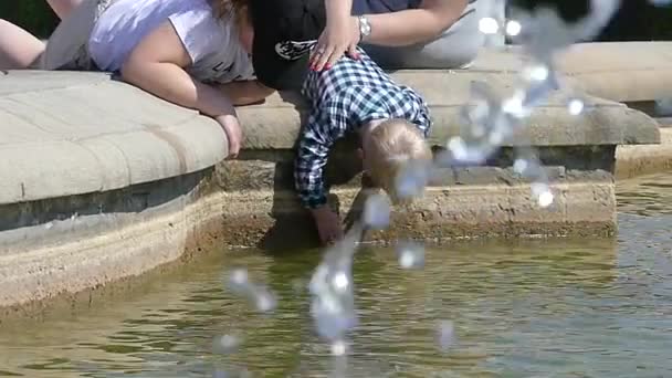
[[[430,187],[414,204],[397,208],[390,228],[366,240],[447,241],[479,238],[609,237],[616,230],[613,181],[553,182],[555,203],[539,209],[528,185]],[[223,243],[265,250],[314,248],[316,231],[309,214],[290,191],[223,192],[222,225],[233,230]],[[358,219],[365,192],[336,188],[329,201],[345,222]],[[241,228],[240,224],[245,224]]]

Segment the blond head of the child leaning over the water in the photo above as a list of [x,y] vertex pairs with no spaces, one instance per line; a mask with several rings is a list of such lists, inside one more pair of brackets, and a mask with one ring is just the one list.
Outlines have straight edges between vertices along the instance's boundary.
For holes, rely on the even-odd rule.
[[395,201],[395,180],[403,167],[432,159],[422,133],[406,119],[388,119],[365,128],[361,150],[364,170]]

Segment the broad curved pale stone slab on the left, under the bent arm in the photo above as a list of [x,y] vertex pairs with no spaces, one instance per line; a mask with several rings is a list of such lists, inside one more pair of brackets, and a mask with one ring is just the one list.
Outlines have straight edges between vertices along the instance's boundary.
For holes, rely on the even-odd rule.
[[227,154],[214,120],[107,74],[0,77],[0,204],[186,175]]

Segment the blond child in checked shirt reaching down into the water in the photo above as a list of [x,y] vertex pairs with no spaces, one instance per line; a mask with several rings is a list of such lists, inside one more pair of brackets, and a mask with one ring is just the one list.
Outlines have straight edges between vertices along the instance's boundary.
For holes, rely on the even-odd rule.
[[298,144],[295,183],[323,243],[343,235],[338,216],[327,206],[322,178],[337,139],[359,134],[365,172],[392,198],[403,165],[431,159],[424,140],[431,125],[424,101],[393,83],[361,49],[358,53],[358,60],[342,57],[329,70],[309,72],[303,86],[311,115]]

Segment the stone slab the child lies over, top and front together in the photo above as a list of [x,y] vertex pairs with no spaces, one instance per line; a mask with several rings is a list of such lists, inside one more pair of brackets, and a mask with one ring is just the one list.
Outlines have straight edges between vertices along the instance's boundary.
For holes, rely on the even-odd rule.
[[[468,104],[473,81],[497,88],[512,87],[513,75],[451,74],[439,71],[405,71],[392,75],[398,82],[420,91],[431,107],[433,127],[430,143],[443,146],[461,135],[460,111]],[[568,97],[568,94],[565,93]],[[658,124],[648,115],[623,104],[588,97],[590,107],[573,116],[558,93],[535,109],[518,135],[503,146],[582,146],[658,144]],[[239,109],[245,127],[245,149],[288,149],[296,144],[305,104],[293,94],[273,94],[264,104]]]

